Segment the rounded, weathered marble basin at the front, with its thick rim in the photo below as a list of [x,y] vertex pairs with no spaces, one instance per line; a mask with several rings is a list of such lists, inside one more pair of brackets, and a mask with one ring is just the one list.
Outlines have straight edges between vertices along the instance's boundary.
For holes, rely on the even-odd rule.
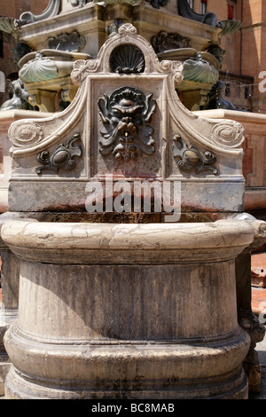
[[8,221],[7,398],[245,398],[234,258],[251,225]]

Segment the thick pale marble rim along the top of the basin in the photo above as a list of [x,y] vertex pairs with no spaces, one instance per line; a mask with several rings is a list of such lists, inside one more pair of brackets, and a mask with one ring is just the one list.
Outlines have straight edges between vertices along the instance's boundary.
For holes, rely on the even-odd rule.
[[[238,256],[254,241],[251,224],[113,224],[10,220],[4,244],[21,259],[53,264],[206,263]],[[178,258],[178,259],[177,259]]]

